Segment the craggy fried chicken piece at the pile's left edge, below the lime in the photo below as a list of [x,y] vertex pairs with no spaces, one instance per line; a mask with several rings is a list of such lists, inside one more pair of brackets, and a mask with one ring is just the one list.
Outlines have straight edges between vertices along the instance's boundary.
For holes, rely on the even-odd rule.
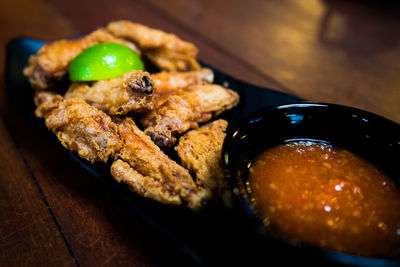
[[[42,95],[45,99],[45,94]],[[101,110],[81,99],[64,100],[60,95],[47,95],[36,113],[46,119],[61,144],[91,163],[107,162],[122,146],[117,126]],[[39,99],[39,97],[37,98]]]

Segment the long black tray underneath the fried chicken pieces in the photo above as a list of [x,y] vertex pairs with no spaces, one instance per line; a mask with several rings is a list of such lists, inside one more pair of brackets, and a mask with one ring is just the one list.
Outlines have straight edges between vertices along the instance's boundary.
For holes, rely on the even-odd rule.
[[[44,43],[23,37],[13,39],[8,43],[5,66],[7,93],[12,105],[21,115],[38,131],[41,131],[46,138],[50,138],[49,142],[54,142],[63,149],[56,138],[46,129],[44,121],[34,116],[33,90],[22,73],[23,68],[27,65],[29,55],[36,53]],[[228,85],[229,88],[240,94],[240,104],[222,115],[229,121],[230,126],[240,118],[261,108],[300,100],[295,96],[244,83],[212,67],[209,68],[214,71],[215,83]],[[270,259],[285,257],[284,252],[282,255],[277,255],[275,252],[269,253],[268,249],[260,251],[260,246],[255,245],[257,242],[249,237],[244,226],[245,222],[237,216],[234,210],[216,203],[194,213],[185,208],[169,207],[144,199],[130,192],[126,186],[115,182],[109,174],[109,166],[105,164],[92,165],[74,153],[67,150],[65,152],[92,173],[98,181],[110,188],[116,197],[126,202],[135,214],[171,240],[200,265],[249,263],[251,259],[255,260],[260,255]]]

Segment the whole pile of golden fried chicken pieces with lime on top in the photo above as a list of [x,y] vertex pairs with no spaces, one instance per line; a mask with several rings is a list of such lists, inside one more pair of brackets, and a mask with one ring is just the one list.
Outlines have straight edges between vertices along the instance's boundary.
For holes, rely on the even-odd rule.
[[[110,47],[117,50],[101,51]],[[100,67],[104,56],[124,57],[118,49],[137,52],[144,70]],[[213,72],[196,57],[197,48],[173,34],[117,21],[45,44],[24,74],[35,115],[65,148],[91,163],[110,162],[112,177],[143,197],[198,210],[225,185],[220,153],[227,122],[211,120],[237,105],[239,95],[212,84]],[[92,77],[82,72],[86,67]],[[118,77],[104,76],[107,68]],[[68,76],[65,92],[58,81]]]

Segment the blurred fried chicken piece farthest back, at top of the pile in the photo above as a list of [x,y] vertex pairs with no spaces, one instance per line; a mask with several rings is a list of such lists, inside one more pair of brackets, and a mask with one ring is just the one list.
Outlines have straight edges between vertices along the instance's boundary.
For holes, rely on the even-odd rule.
[[162,70],[188,71],[200,69],[197,48],[176,35],[130,21],[115,21],[107,30],[117,37],[134,42],[151,62]]

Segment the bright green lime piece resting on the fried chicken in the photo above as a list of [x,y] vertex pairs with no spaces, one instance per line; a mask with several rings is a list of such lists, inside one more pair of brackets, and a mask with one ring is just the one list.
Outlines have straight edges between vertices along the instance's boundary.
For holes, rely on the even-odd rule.
[[129,47],[103,43],[89,47],[72,60],[69,78],[73,82],[107,80],[143,69],[140,56]]

